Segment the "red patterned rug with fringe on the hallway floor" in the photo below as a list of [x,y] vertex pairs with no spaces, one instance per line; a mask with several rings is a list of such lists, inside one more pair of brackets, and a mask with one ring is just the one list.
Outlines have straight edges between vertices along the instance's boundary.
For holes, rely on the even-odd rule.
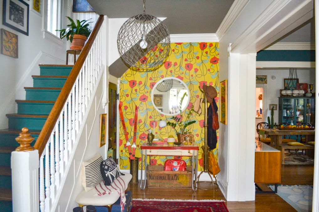
[[135,200],[131,212],[228,212],[224,202],[216,201],[174,201]]

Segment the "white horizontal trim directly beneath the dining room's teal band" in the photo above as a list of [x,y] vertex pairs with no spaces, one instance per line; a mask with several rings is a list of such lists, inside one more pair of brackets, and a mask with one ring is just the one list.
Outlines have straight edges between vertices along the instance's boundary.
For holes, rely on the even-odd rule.
[[316,62],[305,61],[256,61],[256,68],[315,68]]

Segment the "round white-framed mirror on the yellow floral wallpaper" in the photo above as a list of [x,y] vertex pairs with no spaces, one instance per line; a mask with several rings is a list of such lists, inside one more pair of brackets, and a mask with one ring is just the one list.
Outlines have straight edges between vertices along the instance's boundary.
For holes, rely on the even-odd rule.
[[152,90],[152,103],[155,109],[164,115],[174,116],[180,113],[180,101],[184,93],[182,102],[182,111],[189,104],[189,89],[187,85],[180,79],[175,77],[167,77],[159,80]]

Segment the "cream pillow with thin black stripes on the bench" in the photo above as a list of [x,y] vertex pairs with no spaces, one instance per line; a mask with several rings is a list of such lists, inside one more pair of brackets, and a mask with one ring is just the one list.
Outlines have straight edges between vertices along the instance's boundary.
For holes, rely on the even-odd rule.
[[98,153],[88,161],[82,164],[82,185],[85,191],[89,191],[99,184],[103,178],[100,172],[100,164],[103,161],[102,156]]

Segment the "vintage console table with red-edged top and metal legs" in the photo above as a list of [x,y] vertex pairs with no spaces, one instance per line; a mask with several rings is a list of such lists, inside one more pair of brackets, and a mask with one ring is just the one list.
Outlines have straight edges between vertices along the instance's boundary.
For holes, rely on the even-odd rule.
[[[168,145],[167,142],[164,144],[157,144],[149,146],[147,142],[145,142],[142,146],[140,146],[142,150],[142,158],[141,158],[141,189],[145,189],[146,186],[146,167],[147,167],[147,156],[188,156],[192,157],[192,189],[195,190],[194,180],[197,177],[197,160],[198,160],[198,146],[194,144],[193,146],[186,145]],[[144,160],[143,160],[144,158]],[[151,157],[150,157],[151,161]],[[144,165],[143,165],[144,163]],[[142,185],[142,176],[143,176],[143,166],[145,169],[144,172],[144,184]]]

